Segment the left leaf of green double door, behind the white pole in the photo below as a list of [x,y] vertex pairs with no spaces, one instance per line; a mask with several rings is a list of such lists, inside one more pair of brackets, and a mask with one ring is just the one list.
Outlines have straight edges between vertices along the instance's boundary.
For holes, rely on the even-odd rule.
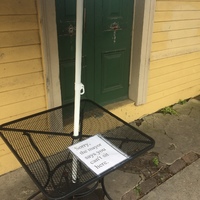
[[[87,9],[86,9],[87,8]],[[82,83],[83,97],[94,99],[94,0],[84,1]],[[56,21],[60,63],[62,103],[74,100],[75,48],[76,48],[76,0],[56,0]],[[90,45],[86,45],[90,44]],[[90,58],[88,59],[88,55]]]

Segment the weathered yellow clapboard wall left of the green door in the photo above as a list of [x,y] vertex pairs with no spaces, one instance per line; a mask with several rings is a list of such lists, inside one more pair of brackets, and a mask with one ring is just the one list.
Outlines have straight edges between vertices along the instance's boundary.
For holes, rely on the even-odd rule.
[[[0,2],[0,124],[46,108],[36,0]],[[0,139],[0,174],[19,167]]]

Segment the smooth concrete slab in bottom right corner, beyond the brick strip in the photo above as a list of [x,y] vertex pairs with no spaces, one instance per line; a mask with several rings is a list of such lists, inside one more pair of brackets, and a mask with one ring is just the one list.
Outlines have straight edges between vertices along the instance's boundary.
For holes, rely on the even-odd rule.
[[152,190],[142,200],[199,200],[200,159],[186,167],[164,184]]

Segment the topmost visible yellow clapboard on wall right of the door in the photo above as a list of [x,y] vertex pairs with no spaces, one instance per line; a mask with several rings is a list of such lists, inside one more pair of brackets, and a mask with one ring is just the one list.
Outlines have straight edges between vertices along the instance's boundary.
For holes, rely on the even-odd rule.
[[157,1],[156,10],[200,10],[200,2],[196,1]]

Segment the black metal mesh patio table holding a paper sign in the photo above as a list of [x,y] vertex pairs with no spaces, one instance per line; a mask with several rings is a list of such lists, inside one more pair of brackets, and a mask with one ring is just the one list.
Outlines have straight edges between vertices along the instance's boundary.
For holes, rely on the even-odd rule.
[[[152,138],[90,100],[81,101],[80,111],[78,137],[73,136],[73,103],[0,126],[4,142],[49,200],[87,195],[98,182],[111,199],[104,186],[104,177],[154,146]],[[73,181],[74,154],[68,147],[97,134],[127,158],[101,174],[96,174],[78,159],[77,180]]]

